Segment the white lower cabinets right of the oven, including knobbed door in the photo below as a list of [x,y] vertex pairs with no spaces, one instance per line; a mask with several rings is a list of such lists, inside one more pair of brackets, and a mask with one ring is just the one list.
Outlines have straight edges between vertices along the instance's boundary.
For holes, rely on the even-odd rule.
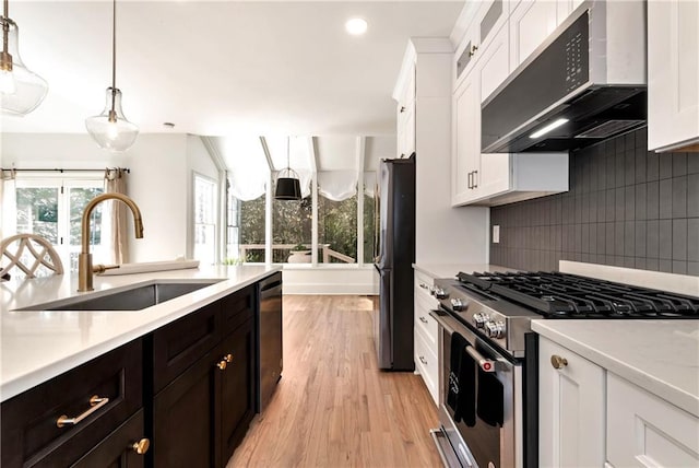
[[540,336],[542,467],[699,467],[699,418]]

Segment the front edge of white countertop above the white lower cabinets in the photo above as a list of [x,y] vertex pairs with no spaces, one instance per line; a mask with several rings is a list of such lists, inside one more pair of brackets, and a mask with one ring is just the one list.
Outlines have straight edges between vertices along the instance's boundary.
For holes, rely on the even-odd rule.
[[699,397],[691,395],[682,388],[677,388],[654,375],[643,372],[627,362],[597,350],[592,346],[571,337],[567,332],[553,329],[547,326],[546,320],[533,320],[532,330],[565,348],[568,348],[570,351],[580,354],[582,358],[593,362],[606,371],[641,387],[645,391],[666,400],[677,408],[687,411],[695,417],[699,417]]

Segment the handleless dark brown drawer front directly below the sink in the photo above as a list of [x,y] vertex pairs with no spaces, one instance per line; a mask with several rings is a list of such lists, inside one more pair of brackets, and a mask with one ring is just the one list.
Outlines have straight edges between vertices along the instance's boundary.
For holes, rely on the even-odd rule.
[[153,332],[153,394],[215,347],[221,337],[221,301]]

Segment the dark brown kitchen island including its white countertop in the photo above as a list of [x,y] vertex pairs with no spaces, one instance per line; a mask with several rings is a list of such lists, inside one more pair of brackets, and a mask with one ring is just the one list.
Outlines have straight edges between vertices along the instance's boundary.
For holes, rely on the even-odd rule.
[[260,294],[268,279],[281,292],[277,270],[0,284],[1,465],[224,467],[259,408]]

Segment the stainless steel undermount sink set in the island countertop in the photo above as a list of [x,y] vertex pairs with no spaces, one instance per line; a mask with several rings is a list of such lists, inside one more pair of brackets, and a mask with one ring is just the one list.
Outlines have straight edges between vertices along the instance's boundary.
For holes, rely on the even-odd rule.
[[36,304],[19,311],[142,311],[223,280],[151,281],[130,288]]

